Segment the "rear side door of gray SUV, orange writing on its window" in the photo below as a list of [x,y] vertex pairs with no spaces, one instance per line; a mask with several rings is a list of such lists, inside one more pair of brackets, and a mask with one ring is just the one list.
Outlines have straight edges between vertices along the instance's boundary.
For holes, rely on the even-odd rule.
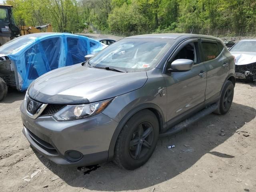
[[224,46],[221,42],[211,39],[202,39],[201,59],[207,70],[207,86],[205,98],[219,96],[223,83],[229,72],[229,60],[225,56]]

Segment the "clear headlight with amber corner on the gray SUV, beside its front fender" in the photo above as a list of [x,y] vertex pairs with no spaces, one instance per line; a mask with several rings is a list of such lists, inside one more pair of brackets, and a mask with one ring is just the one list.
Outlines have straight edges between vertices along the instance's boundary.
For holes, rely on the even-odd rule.
[[91,117],[102,112],[112,99],[82,105],[68,105],[53,115],[58,121],[72,121]]

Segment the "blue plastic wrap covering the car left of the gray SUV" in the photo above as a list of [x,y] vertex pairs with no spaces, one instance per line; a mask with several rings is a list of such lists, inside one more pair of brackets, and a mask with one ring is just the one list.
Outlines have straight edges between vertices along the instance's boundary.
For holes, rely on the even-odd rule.
[[[104,44],[69,33],[36,33],[21,36],[0,47],[14,63],[16,87],[28,88],[36,78],[56,68],[84,62],[84,56],[96,54]],[[18,82],[17,82],[18,80]]]

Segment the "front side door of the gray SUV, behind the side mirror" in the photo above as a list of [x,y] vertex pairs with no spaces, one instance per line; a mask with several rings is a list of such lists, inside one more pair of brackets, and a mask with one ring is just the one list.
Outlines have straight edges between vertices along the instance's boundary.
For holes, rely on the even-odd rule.
[[176,59],[194,60],[194,66],[187,72],[168,73],[166,70],[166,74],[163,74],[167,88],[168,121],[203,104],[205,100],[206,67],[200,62],[198,40],[183,42],[168,63]]

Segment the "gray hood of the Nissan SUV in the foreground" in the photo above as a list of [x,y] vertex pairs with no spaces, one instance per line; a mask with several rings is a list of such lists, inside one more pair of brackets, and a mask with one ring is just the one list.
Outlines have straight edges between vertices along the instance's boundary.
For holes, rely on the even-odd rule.
[[76,64],[36,79],[28,89],[34,100],[48,104],[82,104],[112,98],[141,88],[146,72],[122,73]]

